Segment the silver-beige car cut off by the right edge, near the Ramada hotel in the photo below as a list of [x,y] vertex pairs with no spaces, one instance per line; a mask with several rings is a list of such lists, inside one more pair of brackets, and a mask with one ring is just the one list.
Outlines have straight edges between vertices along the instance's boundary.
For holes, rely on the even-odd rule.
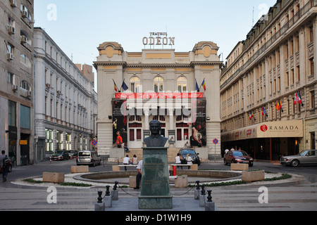
[[280,164],[291,165],[292,167],[317,164],[317,150],[303,150],[298,155],[282,156],[280,158]]

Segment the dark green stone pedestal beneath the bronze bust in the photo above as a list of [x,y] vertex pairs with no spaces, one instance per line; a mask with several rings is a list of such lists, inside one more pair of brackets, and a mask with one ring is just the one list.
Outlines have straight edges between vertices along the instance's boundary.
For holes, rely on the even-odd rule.
[[168,148],[143,148],[142,189],[139,209],[172,209]]

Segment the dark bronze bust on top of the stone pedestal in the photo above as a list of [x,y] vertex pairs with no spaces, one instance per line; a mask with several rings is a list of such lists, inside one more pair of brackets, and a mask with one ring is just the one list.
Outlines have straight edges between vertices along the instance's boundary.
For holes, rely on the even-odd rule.
[[151,136],[149,136],[147,139],[144,139],[144,143],[147,145],[147,147],[164,147],[166,144],[165,137],[161,136],[161,122],[158,120],[152,120],[149,123]]

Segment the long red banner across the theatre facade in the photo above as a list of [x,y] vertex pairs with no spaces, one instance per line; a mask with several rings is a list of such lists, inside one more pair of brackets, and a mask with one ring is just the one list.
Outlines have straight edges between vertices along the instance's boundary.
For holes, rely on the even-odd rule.
[[204,98],[204,93],[116,93],[116,98]]

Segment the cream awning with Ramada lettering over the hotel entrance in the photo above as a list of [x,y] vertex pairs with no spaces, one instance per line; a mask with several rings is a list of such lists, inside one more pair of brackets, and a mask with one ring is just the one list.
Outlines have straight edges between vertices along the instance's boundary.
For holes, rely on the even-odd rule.
[[302,120],[275,121],[254,124],[249,127],[221,133],[221,141],[239,141],[245,139],[303,137]]

